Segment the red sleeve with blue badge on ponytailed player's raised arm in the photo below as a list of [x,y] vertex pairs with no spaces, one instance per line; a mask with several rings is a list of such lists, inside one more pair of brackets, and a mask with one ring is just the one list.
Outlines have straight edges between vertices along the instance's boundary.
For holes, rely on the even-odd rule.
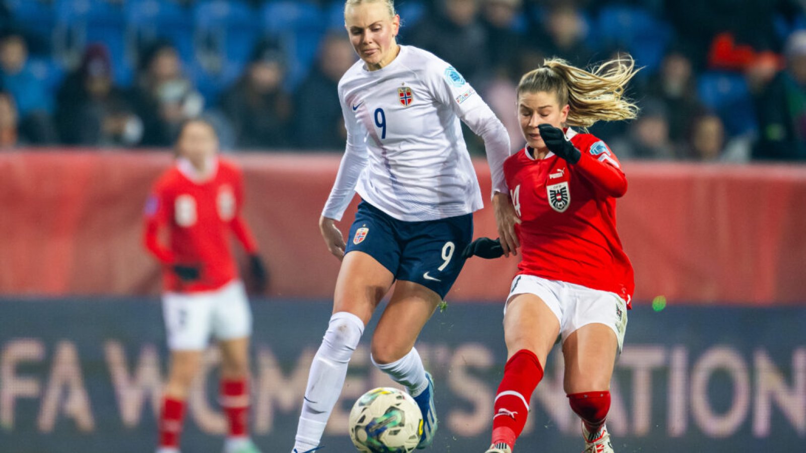
[[621,171],[621,164],[605,142],[590,137],[596,141],[589,143],[590,140],[586,140],[580,143],[582,156],[576,163],[576,168],[607,196],[623,197],[627,192],[627,177]]

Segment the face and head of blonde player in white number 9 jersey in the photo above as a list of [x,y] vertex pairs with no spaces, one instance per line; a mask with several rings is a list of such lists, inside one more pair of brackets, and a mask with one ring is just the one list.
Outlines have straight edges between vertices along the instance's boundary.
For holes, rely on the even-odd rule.
[[370,71],[383,68],[397,56],[395,36],[400,23],[399,15],[389,17],[383,2],[360,3],[344,11],[350,42]]

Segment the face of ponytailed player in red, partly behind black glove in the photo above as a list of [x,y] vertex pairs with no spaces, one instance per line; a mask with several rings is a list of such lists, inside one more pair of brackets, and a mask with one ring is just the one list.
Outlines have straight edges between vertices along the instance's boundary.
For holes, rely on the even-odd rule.
[[521,94],[517,99],[517,117],[521,121],[521,132],[531,148],[546,149],[546,143],[538,131],[541,124],[563,127],[568,118],[570,106],[560,106],[557,94],[547,91]]

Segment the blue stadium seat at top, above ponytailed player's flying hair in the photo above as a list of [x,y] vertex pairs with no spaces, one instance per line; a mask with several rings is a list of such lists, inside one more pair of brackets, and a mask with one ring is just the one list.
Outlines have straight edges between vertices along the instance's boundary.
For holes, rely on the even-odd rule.
[[646,66],[646,75],[659,68],[671,27],[655,19],[649,11],[632,6],[605,6],[596,21],[596,36],[600,50],[624,47],[639,66]]

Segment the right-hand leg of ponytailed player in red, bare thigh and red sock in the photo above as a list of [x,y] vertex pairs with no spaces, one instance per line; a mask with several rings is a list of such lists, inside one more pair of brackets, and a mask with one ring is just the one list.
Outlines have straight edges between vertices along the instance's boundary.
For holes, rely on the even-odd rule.
[[613,453],[605,420],[618,340],[609,326],[592,323],[563,342],[564,387],[571,409],[582,419],[585,453]]

